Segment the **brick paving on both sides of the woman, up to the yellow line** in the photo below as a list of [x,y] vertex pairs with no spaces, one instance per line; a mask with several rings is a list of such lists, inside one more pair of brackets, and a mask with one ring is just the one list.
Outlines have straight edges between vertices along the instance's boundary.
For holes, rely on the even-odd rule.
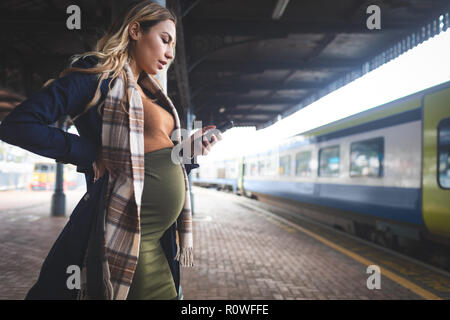
[[[194,192],[196,265],[182,268],[184,299],[422,299],[383,276],[381,289],[369,290],[367,266],[240,206],[235,196]],[[50,192],[0,193],[0,204],[15,204],[0,205],[0,299],[25,297],[83,194],[67,192],[67,217],[56,218]]]

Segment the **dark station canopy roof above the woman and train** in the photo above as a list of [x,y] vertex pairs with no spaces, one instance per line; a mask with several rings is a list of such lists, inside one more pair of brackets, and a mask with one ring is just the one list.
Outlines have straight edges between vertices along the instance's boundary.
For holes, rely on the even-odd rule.
[[[0,3],[0,120],[90,51],[129,1]],[[81,9],[68,30],[67,7]],[[380,29],[369,29],[370,5]],[[445,31],[448,0],[167,0],[178,16],[168,94],[204,124],[264,128]],[[370,19],[369,19],[370,20]],[[373,20],[372,20],[373,22]],[[413,66],[412,66],[413,67]]]

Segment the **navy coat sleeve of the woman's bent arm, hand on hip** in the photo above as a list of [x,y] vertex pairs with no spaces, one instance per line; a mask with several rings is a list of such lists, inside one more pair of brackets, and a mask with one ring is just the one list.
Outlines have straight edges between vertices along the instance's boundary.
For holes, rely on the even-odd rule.
[[0,123],[0,139],[59,162],[92,165],[98,149],[94,139],[49,125],[61,116],[81,113],[96,87],[92,74],[74,72],[56,79],[6,116]]

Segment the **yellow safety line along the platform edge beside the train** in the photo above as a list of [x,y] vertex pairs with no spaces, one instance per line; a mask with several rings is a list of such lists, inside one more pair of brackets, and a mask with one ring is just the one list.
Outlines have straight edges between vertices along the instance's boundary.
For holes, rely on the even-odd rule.
[[[358,254],[356,254],[354,252],[351,252],[350,250],[347,250],[347,249],[345,249],[345,248],[343,248],[341,246],[338,246],[337,244],[335,244],[335,243],[333,243],[333,242],[331,242],[331,241],[329,241],[329,240],[327,240],[327,239],[325,239],[325,238],[315,234],[314,232],[311,232],[311,231],[309,231],[309,230],[307,230],[305,228],[302,228],[302,227],[296,225],[295,223],[292,223],[292,222],[290,222],[290,221],[288,221],[288,220],[286,220],[284,218],[278,217],[278,216],[276,216],[276,215],[274,215],[274,214],[272,214],[270,212],[266,212],[266,210],[264,210],[264,209],[261,209],[261,208],[258,208],[258,207],[254,207],[254,206],[252,206],[250,204],[244,204],[244,205],[245,206],[248,205],[248,206],[252,207],[252,209],[260,211],[263,214],[272,215],[273,216],[272,218],[278,219],[281,222],[286,223],[286,224],[290,225],[291,227],[293,227],[293,228],[295,228],[295,229],[297,229],[297,230],[299,230],[299,231],[301,231],[303,233],[306,233],[307,235],[313,237],[314,239],[316,239],[316,240],[326,244],[329,247],[332,247],[333,249],[335,249],[335,250],[337,250],[337,251],[339,251],[339,252],[341,252],[341,253],[349,256],[349,257],[351,257],[352,259],[354,259],[354,260],[356,260],[356,261],[358,261],[358,262],[360,262],[360,263],[362,263],[362,264],[364,264],[366,266],[376,265],[376,263],[374,263],[374,262],[372,262],[370,260],[367,260],[366,258],[363,258],[360,255],[358,255]],[[388,277],[391,280],[397,282],[401,286],[411,290],[415,294],[417,294],[417,295],[419,295],[419,296],[421,296],[421,297],[423,297],[423,298],[425,298],[427,300],[442,300],[442,298],[440,298],[437,295],[431,293],[430,291],[419,287],[418,285],[412,283],[411,281],[409,281],[409,280],[407,280],[407,279],[405,279],[403,277],[400,277],[400,276],[396,275],[395,273],[393,273],[393,272],[391,272],[389,270],[386,270],[385,268],[380,267],[380,272],[381,272],[382,275],[385,275],[386,277]]]

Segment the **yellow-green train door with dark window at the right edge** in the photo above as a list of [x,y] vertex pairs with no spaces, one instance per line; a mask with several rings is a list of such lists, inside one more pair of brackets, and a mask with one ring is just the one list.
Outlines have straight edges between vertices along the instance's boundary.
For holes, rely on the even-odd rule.
[[450,87],[426,95],[423,110],[422,215],[427,229],[450,236]]

